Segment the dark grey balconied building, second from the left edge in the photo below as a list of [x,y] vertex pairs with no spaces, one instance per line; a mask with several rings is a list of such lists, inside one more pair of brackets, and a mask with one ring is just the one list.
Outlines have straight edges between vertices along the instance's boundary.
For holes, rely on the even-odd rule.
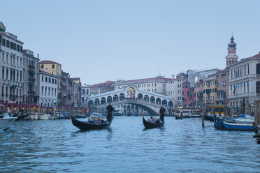
[[39,58],[31,50],[23,50],[22,104],[39,103]]

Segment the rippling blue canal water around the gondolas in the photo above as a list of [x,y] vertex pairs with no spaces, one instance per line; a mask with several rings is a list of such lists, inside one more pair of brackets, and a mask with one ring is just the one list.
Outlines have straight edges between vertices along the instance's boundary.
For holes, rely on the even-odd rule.
[[87,132],[71,120],[15,121],[0,131],[0,172],[260,172],[253,132],[165,121],[144,130],[140,116],[116,116],[110,128]]

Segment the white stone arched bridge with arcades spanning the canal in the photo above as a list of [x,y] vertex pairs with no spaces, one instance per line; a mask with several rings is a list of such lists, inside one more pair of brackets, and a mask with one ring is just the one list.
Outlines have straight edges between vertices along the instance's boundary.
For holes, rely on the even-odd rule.
[[97,112],[104,112],[108,103],[111,103],[115,110],[122,114],[140,114],[144,111],[149,114],[158,114],[161,105],[166,110],[174,105],[173,98],[169,96],[143,91],[133,86],[87,98],[88,107]]

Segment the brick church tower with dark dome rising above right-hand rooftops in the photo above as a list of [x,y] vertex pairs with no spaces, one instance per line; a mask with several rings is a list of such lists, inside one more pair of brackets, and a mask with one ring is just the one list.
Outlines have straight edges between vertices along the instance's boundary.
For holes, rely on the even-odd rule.
[[238,61],[238,56],[236,55],[236,43],[234,42],[233,36],[230,40],[231,41],[228,44],[228,55],[226,56],[226,67]]

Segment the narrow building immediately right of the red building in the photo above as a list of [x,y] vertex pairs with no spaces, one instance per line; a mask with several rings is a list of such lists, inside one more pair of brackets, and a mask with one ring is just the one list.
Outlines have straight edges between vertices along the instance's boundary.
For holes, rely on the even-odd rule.
[[203,80],[196,82],[194,87],[195,107],[203,107]]

